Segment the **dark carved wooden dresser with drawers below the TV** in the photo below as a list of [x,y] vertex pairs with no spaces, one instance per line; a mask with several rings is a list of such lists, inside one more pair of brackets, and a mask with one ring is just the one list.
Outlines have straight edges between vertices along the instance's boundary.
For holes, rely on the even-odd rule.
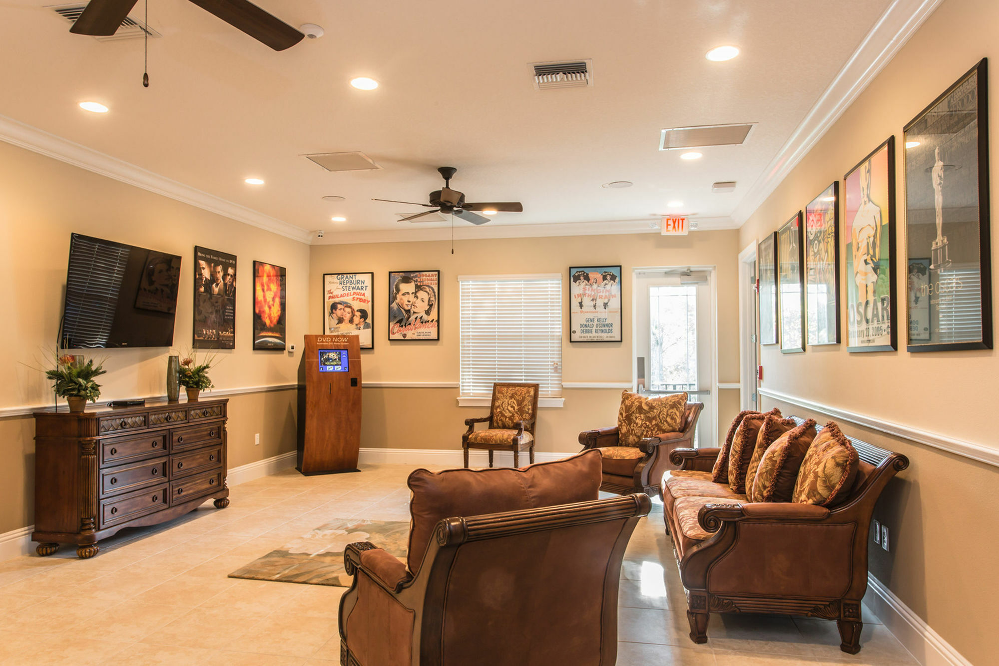
[[176,518],[208,498],[228,506],[228,402],[35,412],[38,554],[75,543],[77,555],[93,557],[123,527]]

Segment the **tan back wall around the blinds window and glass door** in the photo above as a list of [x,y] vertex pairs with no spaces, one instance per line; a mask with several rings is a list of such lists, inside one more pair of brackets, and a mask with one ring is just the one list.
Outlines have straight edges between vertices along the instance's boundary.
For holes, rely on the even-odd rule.
[[[696,232],[687,237],[655,234],[313,246],[309,330],[322,333],[324,273],[375,273],[375,348],[362,351],[364,379],[374,381],[459,380],[458,276],[558,273],[567,289],[569,266],[622,266],[623,341],[569,342],[562,337],[563,381],[631,381],[631,270],[635,267],[716,266],[718,378],[738,381],[737,233]],[[389,341],[385,329],[389,271],[440,269],[443,321],[441,339]],[[566,292],[567,293],[567,292]],[[567,297],[565,297],[567,303]],[[719,418],[738,411],[738,390],[721,391]],[[459,407],[458,388],[371,387],[364,391],[362,446],[461,448],[464,420],[488,407]],[[574,451],[580,430],[616,422],[619,389],[565,389],[564,407],[542,408],[537,450]]]

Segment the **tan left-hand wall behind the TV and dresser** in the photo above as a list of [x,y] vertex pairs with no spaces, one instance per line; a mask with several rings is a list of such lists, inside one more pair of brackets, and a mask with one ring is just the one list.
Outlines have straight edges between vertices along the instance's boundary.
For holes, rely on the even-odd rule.
[[[0,143],[0,312],[5,316],[0,408],[51,404],[41,371],[62,313],[70,233],[79,232],[183,258],[174,343],[192,334],[194,246],[237,255],[236,348],[219,353],[219,388],[297,381],[290,353],[253,351],[252,262],[288,269],[288,333],[306,328],[308,246],[154,195],[118,181]],[[166,348],[106,349],[101,399],[164,394]],[[211,395],[211,393],[209,393]],[[65,401],[63,401],[65,408]],[[230,401],[230,466],[295,447],[295,391],[235,395]],[[261,433],[255,446],[254,433]],[[34,422],[0,418],[0,533],[33,522]]]

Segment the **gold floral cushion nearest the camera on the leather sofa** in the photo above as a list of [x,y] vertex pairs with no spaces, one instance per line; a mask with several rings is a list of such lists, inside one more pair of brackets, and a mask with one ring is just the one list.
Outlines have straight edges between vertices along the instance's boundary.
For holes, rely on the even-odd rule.
[[860,456],[833,421],[812,440],[801,462],[791,501],[832,506],[846,499],[860,467]]

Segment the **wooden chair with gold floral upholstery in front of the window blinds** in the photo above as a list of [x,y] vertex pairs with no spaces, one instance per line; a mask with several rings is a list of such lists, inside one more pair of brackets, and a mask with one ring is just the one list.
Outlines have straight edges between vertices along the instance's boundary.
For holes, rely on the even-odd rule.
[[[520,466],[520,451],[526,449],[528,460],[534,462],[534,426],[537,421],[537,395],[540,385],[536,383],[495,383],[490,415],[482,418],[466,418],[468,431],[462,435],[462,449],[465,451],[465,466],[469,466],[469,449],[485,448],[490,452],[490,466],[493,466],[493,451],[513,451],[513,466]],[[476,423],[489,423],[486,429],[477,430]]]

